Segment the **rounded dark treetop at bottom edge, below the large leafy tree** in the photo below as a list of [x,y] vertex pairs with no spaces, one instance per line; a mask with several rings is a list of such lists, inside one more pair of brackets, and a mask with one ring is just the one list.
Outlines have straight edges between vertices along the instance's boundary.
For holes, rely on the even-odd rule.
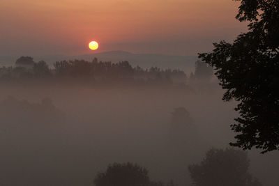
[[248,172],[247,153],[232,148],[211,149],[200,164],[188,166],[193,185],[261,186]]

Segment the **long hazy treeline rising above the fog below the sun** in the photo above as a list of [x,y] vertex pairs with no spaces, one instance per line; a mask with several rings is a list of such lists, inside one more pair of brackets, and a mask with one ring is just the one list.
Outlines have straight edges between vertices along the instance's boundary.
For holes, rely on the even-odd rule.
[[50,68],[45,61],[34,62],[29,56],[17,59],[14,66],[0,68],[0,80],[38,78],[75,78],[95,82],[160,82],[186,83],[187,76],[182,70],[163,70],[157,67],[133,68],[128,61],[119,63],[84,60],[57,61]]

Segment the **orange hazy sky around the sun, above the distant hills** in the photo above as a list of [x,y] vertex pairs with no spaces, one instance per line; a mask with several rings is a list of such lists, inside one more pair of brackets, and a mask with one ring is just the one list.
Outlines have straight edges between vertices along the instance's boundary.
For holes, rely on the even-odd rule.
[[1,0],[0,56],[98,52],[193,55],[246,24],[232,0]]

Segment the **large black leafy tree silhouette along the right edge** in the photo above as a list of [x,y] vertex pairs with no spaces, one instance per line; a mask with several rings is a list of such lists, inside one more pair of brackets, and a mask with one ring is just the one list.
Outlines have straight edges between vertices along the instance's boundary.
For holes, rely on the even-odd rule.
[[242,0],[236,19],[250,22],[249,31],[232,44],[214,43],[213,52],[199,58],[215,68],[227,89],[223,100],[240,102],[231,145],[279,150],[279,1]]

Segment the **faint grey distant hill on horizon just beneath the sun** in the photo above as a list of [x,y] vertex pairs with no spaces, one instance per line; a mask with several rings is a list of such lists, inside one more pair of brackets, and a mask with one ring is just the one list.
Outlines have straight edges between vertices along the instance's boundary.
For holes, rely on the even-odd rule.
[[[20,57],[20,56],[18,56]],[[95,57],[98,61],[112,61],[113,63],[119,61],[128,61],[134,67],[139,65],[142,68],[151,68],[157,66],[158,68],[171,68],[184,70],[187,74],[195,69],[195,61],[197,56],[174,56],[165,54],[133,54],[123,51],[100,52],[95,54],[84,54],[80,56],[32,56],[34,61],[44,60],[49,64],[55,61],[84,59],[92,61]],[[16,58],[8,58],[0,56],[1,65],[14,65]]]

